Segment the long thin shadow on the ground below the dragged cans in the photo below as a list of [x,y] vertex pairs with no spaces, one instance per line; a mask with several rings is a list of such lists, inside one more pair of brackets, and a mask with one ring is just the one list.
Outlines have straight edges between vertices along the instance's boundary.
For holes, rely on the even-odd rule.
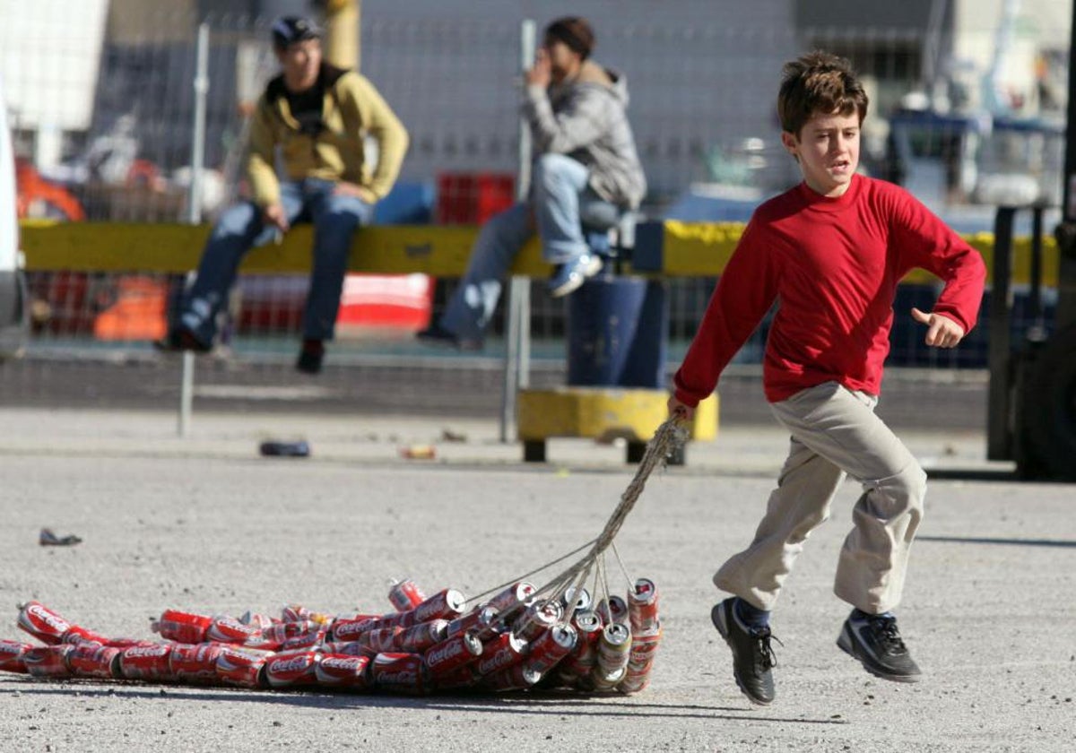
[[[343,693],[267,693],[259,691],[207,688],[197,692],[193,688],[162,685],[157,690],[136,690],[131,685],[116,685],[102,688],[100,685],[89,687],[82,682],[69,680],[59,685],[38,684],[34,680],[25,679],[12,687],[0,688],[0,696],[14,693],[32,695],[71,695],[82,698],[145,698],[196,701],[247,701],[255,704],[284,704],[287,706],[348,709],[348,708],[409,708],[429,711],[457,711],[478,713],[512,713],[563,716],[652,716],[667,719],[711,719],[725,721],[774,722],[778,724],[847,724],[839,716],[830,719],[807,719],[790,716],[760,716],[753,708],[732,708],[724,706],[695,706],[688,704],[640,704],[625,699],[623,696],[587,696],[579,694],[534,694],[514,697],[478,697],[475,695],[437,695],[421,698],[388,695],[362,695]],[[592,698],[605,700],[592,700]],[[617,700],[621,699],[621,700]],[[539,708],[535,708],[539,707]],[[541,708],[544,707],[544,708]]]

